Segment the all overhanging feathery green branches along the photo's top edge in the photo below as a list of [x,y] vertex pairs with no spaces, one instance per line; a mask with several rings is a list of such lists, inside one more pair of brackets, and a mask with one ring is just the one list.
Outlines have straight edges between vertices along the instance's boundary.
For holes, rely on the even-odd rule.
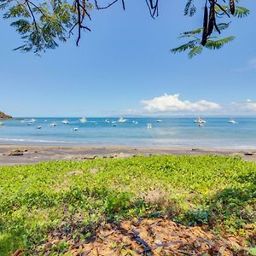
[[[89,31],[87,20],[91,20],[92,10],[108,9],[113,4],[121,3],[125,10],[125,0],[0,0],[3,19],[12,20],[11,26],[20,34],[23,44],[16,49],[35,53],[46,49],[55,49],[61,42],[67,41],[74,34],[76,44],[83,31]],[[126,0],[127,1],[127,0]],[[159,15],[160,0],[144,0],[149,15]],[[202,49],[219,49],[234,37],[217,38],[212,34],[220,34],[230,26],[230,16],[246,17],[249,10],[239,6],[240,0],[206,0],[204,8],[195,5],[195,0],[186,0],[184,15],[192,17],[201,11],[203,24],[201,28],[183,32],[180,38],[189,38],[189,42],[172,49],[173,53],[189,50],[189,57],[198,55]],[[163,1],[162,1],[163,2]],[[201,1],[196,1],[202,4]],[[105,5],[104,5],[105,4]],[[200,10],[200,11],[198,11]],[[222,20],[222,22],[218,22]],[[191,40],[192,39],[192,40]]]

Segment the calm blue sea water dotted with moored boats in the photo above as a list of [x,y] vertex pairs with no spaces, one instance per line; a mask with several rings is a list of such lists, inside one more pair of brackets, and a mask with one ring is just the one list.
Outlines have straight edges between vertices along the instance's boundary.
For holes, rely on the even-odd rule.
[[[79,118],[67,118],[68,125],[61,124],[63,119],[37,118],[32,125],[6,120],[0,126],[0,144],[256,148],[256,118],[235,118],[236,124],[230,124],[229,118],[207,118],[202,128],[193,123],[195,118],[165,118],[162,123],[154,118],[129,118],[117,126],[106,123],[106,118],[89,118],[84,124]],[[57,125],[49,126],[53,122]],[[152,129],[147,129],[148,123]]]

